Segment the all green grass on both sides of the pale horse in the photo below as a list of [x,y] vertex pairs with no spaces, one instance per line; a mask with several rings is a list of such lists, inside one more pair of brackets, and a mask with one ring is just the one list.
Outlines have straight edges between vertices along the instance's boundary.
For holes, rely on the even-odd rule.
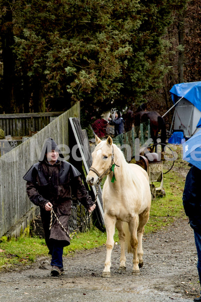
[[[182,205],[182,192],[185,183],[185,174],[189,170],[187,163],[181,160],[181,146],[174,146],[178,158],[172,170],[164,175],[166,196],[156,197],[152,201],[150,219],[145,226],[145,234],[157,232],[166,228],[174,219],[185,217]],[[184,173],[181,173],[184,171]],[[27,231],[27,230],[26,230]],[[0,269],[18,267],[33,263],[39,256],[47,256],[48,249],[44,239],[31,238],[25,232],[18,239],[0,242]],[[117,232],[115,241],[118,242]],[[71,244],[64,248],[64,256],[73,256],[76,251],[93,249],[106,244],[106,233],[96,228],[86,233],[77,233]]]

